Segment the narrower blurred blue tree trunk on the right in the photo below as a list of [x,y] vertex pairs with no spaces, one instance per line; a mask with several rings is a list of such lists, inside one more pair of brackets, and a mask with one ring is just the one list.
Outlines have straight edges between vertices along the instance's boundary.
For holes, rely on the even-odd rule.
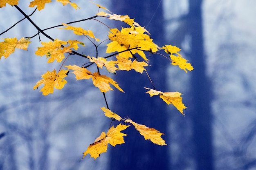
[[187,19],[191,36],[193,143],[197,170],[213,170],[211,84],[206,76],[202,29],[202,0],[189,0]]

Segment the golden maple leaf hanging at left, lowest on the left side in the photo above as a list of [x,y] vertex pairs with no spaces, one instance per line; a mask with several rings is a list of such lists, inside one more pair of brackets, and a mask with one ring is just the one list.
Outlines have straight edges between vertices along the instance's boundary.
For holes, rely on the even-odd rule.
[[33,90],[38,88],[41,84],[45,84],[40,90],[43,92],[43,95],[53,93],[54,88],[62,89],[64,87],[64,85],[67,83],[67,81],[63,79],[65,77],[67,77],[67,70],[62,69],[58,72],[58,74],[56,73],[55,69],[52,72],[47,71],[45,74],[42,75],[43,79],[36,83]]

